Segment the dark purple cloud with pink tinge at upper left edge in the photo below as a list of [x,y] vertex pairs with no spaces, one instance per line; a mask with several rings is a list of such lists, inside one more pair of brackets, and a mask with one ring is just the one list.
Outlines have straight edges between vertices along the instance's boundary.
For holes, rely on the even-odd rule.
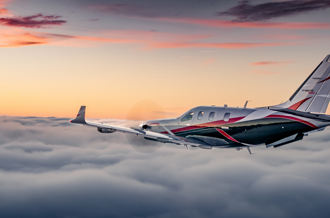
[[58,20],[62,16],[36,14],[32,16],[14,16],[0,18],[0,25],[26,28],[47,28],[50,25],[62,25],[65,20]]

